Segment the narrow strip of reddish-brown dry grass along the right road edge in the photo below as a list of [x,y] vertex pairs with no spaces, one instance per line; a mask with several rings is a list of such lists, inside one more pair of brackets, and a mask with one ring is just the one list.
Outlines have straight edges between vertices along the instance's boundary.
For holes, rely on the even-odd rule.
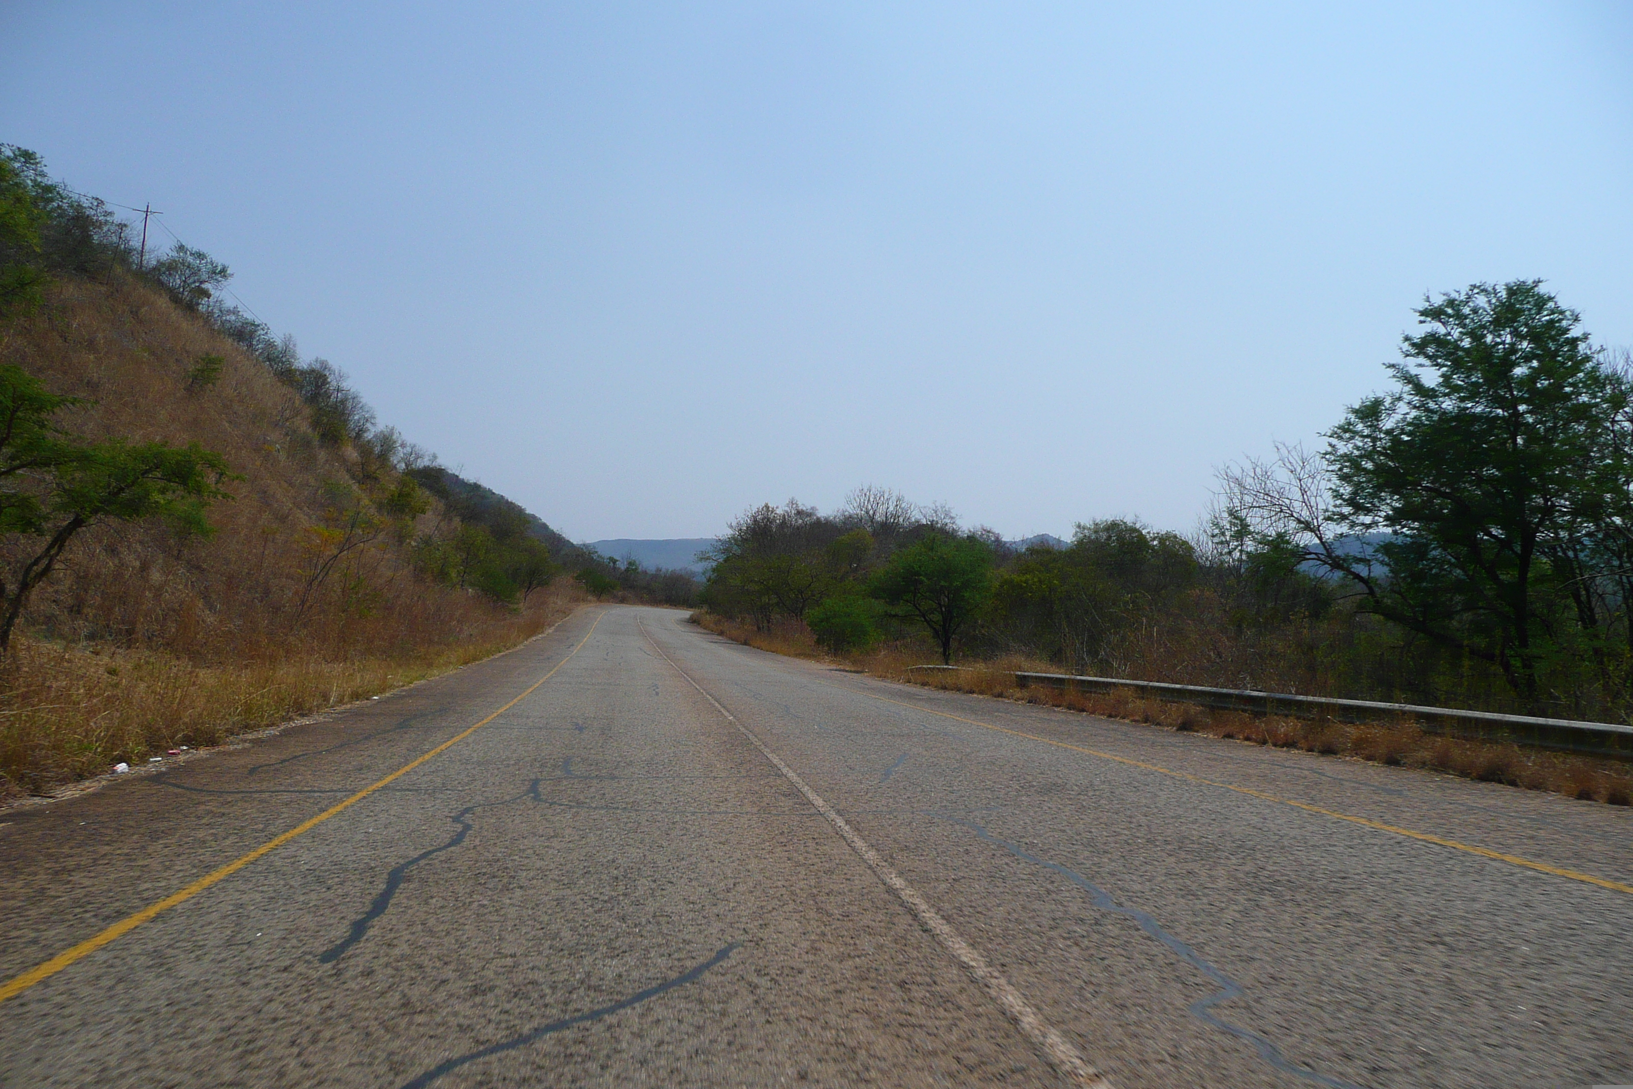
[[746,647],[815,661],[838,661],[846,668],[890,681],[1042,704],[1104,718],[1235,738],[1253,745],[1303,749],[1323,756],[1349,756],[1396,767],[1417,767],[1610,805],[1633,803],[1633,774],[1625,762],[1615,759],[1447,738],[1426,733],[1409,722],[1349,725],[1210,710],[1150,699],[1135,692],[1022,689],[1016,686],[1016,673],[1060,673],[1060,668],[1052,663],[1009,656],[975,663],[967,669],[918,671],[911,668],[932,663],[937,658],[928,645],[921,648],[882,647],[865,653],[836,656],[820,648],[810,629],[797,620],[781,620],[764,632],[756,630],[753,624],[727,620],[707,611],[694,612],[692,620]]

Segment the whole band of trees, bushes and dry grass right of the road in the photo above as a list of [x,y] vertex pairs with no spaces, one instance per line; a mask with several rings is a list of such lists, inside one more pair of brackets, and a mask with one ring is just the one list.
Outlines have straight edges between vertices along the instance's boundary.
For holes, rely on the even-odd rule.
[[[999,678],[991,663],[1024,660],[1138,681],[1628,722],[1626,353],[1594,346],[1579,315],[1538,282],[1476,284],[1426,300],[1417,317],[1421,331],[1388,366],[1393,389],[1350,408],[1321,451],[1280,447],[1269,462],[1225,467],[1194,532],[1106,519],[1079,524],[1060,547],[1022,549],[882,488],[857,490],[833,514],[790,500],[746,513],[720,540],[699,619],[768,650],[820,650],[887,674],[955,656],[977,666],[924,681],[934,684],[993,686],[970,678]],[[1626,798],[1613,762],[1497,753],[1404,725],[1159,717],[1174,715],[1186,722],[1168,725]]]

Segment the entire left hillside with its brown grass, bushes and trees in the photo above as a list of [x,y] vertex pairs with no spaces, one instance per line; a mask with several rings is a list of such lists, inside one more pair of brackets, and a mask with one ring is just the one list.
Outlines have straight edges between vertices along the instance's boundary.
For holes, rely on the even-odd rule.
[[377,426],[227,276],[144,258],[0,149],[0,797],[474,661],[591,596],[689,599]]

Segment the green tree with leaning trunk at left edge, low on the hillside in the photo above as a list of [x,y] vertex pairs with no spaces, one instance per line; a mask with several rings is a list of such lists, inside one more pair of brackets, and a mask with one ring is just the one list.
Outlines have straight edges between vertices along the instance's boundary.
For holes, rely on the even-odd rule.
[[85,441],[54,416],[72,397],[49,393],[18,367],[0,366],[0,534],[34,539],[0,580],[0,653],[34,589],[82,531],[158,518],[176,532],[209,537],[211,503],[237,480],[220,454],[165,442]]

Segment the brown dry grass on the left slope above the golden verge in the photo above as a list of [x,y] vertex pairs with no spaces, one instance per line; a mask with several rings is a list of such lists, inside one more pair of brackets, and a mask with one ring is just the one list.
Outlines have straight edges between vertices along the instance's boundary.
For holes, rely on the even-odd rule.
[[[188,371],[206,353],[225,359],[220,380],[189,389]],[[245,477],[211,509],[211,540],[176,539],[160,524],[80,534],[29,602],[36,633],[232,663],[314,645],[412,647],[492,619],[465,594],[418,580],[390,539],[348,555],[300,612],[325,519],[354,501],[354,456],[322,446],[292,390],[150,287],[64,281],[36,315],[0,328],[0,361],[87,398],[60,420],[78,434],[199,442]],[[34,544],[5,542],[0,558]]]

